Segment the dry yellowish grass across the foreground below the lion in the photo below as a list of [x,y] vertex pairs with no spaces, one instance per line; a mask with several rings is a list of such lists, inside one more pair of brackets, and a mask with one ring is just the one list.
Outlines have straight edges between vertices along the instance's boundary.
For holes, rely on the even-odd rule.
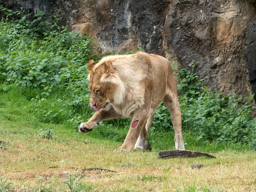
[[[10,130],[2,121],[1,130]],[[21,128],[21,127],[19,127]],[[214,153],[217,159],[158,159],[157,151],[113,153],[118,143],[97,140],[56,126],[53,139],[42,139],[37,132],[4,132],[6,150],[0,152],[0,174],[14,189],[52,191],[67,188],[69,175],[79,183],[102,191],[255,191],[254,152],[226,150]],[[58,132],[61,131],[61,134]],[[29,133],[26,135],[26,133]],[[128,163],[132,163],[128,165]],[[201,169],[192,164],[201,163]],[[126,165],[126,167],[122,167]],[[83,170],[103,167],[117,173]],[[88,189],[89,190],[89,189]]]

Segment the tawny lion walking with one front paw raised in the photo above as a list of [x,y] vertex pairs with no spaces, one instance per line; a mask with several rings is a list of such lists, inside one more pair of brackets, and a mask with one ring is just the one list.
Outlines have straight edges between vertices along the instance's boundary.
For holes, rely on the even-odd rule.
[[171,63],[166,58],[142,52],[114,55],[98,63],[90,60],[87,69],[90,106],[96,113],[79,125],[79,132],[92,131],[101,120],[128,117],[132,123],[117,151],[151,149],[146,137],[155,111],[163,101],[171,114],[175,148],[185,150],[177,85]]

